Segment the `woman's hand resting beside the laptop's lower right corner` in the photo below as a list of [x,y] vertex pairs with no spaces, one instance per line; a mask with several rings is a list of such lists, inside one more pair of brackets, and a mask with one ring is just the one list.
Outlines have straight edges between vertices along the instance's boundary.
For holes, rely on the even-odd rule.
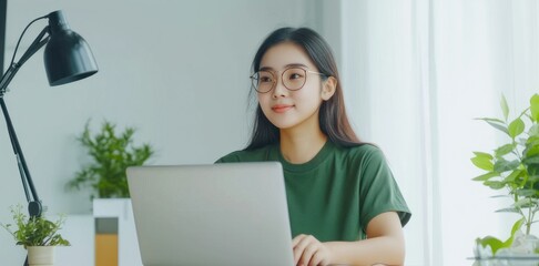
[[312,235],[298,235],[292,239],[294,264],[297,266],[325,266],[332,260],[330,250]]

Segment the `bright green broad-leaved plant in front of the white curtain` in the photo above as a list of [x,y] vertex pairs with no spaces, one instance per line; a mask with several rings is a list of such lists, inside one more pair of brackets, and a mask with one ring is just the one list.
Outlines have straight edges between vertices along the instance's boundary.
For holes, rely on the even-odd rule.
[[[531,235],[531,225],[537,222],[539,211],[539,94],[533,94],[530,105],[512,120],[509,120],[507,101],[501,96],[501,111],[504,119],[479,119],[504,132],[507,143],[492,152],[474,152],[471,162],[486,172],[474,181],[505,191],[501,196],[511,198],[511,204],[496,212],[516,213],[520,218],[508,239],[487,236],[478,238],[477,244],[479,249],[490,248],[491,255],[499,250],[533,254],[538,241]],[[520,233],[522,227],[525,233]]]

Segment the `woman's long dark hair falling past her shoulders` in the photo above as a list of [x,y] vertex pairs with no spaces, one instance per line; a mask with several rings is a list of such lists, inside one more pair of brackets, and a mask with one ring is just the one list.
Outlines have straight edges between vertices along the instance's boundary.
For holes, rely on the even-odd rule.
[[[345,111],[345,103],[337,64],[333,58],[332,50],[327,42],[315,31],[308,28],[281,28],[272,32],[261,44],[253,60],[253,73],[257,72],[261,61],[266,51],[282,42],[293,42],[302,47],[318,71],[327,76],[337,80],[335,94],[327,101],[323,101],[319,109],[319,125],[329,141],[340,146],[356,146],[362,144],[348,122]],[[251,90],[253,93],[254,90]],[[245,150],[255,150],[267,144],[278,143],[279,130],[273,125],[262,112],[258,104],[255,113],[255,121],[251,142]]]

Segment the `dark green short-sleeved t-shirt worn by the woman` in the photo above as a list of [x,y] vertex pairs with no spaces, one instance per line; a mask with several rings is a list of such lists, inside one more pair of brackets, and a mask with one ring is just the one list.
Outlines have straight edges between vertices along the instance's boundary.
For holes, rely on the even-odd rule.
[[365,239],[368,222],[397,212],[404,226],[411,214],[379,149],[339,147],[326,142],[307,163],[291,164],[278,144],[237,151],[216,163],[276,161],[283,165],[292,235],[321,242]]

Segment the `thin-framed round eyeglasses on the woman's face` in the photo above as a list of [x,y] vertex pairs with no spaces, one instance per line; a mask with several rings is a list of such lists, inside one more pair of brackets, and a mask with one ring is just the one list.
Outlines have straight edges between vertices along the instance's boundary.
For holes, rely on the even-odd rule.
[[[305,85],[305,82],[307,82],[307,73],[326,76],[326,74],[302,68],[289,68],[283,71],[281,81],[289,91],[297,91]],[[258,93],[266,93],[273,90],[277,84],[277,72],[261,70],[251,75],[251,81],[253,82],[253,88]]]

